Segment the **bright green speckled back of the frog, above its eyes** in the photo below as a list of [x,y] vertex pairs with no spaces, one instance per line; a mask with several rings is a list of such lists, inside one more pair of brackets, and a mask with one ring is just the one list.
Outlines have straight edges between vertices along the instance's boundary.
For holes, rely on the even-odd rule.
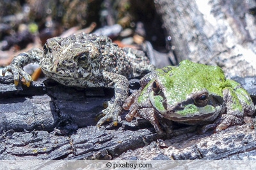
[[177,96],[186,98],[188,94],[202,89],[222,96],[222,89],[228,86],[220,67],[198,64],[189,60],[183,60],[178,66],[156,69],[147,76],[150,79],[156,78],[157,81],[163,83],[166,90],[172,91],[170,98]]

